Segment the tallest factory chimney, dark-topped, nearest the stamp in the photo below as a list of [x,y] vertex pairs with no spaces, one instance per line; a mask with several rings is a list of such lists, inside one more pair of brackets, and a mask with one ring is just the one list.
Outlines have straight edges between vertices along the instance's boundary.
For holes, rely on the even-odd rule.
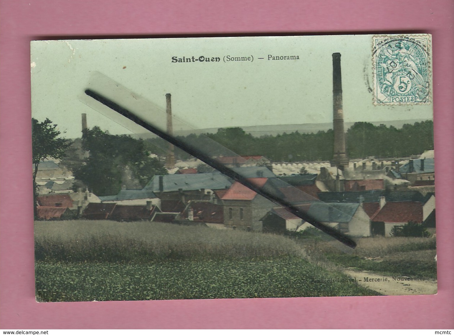
[[333,128],[334,154],[331,166],[341,170],[348,167],[349,159],[345,150],[344,112],[342,109],[341,54],[333,54]]

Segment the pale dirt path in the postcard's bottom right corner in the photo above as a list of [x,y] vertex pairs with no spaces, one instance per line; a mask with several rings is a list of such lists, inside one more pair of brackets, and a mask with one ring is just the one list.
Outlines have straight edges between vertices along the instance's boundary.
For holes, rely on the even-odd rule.
[[406,296],[436,294],[437,281],[419,280],[405,276],[381,276],[368,271],[346,269],[346,275],[355,278],[361,286],[370,288],[385,296]]

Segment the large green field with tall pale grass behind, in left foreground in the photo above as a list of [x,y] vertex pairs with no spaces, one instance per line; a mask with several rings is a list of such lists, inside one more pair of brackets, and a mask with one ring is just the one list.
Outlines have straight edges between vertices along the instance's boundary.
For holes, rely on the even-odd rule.
[[149,222],[35,222],[38,301],[378,295],[285,236]]

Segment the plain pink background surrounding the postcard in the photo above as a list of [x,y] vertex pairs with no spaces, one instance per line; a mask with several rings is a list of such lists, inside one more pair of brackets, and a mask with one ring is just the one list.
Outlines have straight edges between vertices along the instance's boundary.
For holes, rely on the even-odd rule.
[[[0,2],[2,329],[454,328],[453,1]],[[35,302],[30,40],[375,32],[433,34],[438,295]]]

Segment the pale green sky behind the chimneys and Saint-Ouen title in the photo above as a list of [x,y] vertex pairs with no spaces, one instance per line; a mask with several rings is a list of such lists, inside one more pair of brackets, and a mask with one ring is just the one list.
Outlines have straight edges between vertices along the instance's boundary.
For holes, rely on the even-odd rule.
[[[335,52],[346,122],[433,118],[432,103],[373,104],[372,35],[33,41],[32,116],[49,118],[68,138],[81,136],[81,113],[89,127],[128,133],[80,101],[99,72],[162,110],[171,93],[173,115],[190,128],[332,122]],[[172,63],[183,56],[221,61]],[[227,56],[253,61],[224,62]]]

